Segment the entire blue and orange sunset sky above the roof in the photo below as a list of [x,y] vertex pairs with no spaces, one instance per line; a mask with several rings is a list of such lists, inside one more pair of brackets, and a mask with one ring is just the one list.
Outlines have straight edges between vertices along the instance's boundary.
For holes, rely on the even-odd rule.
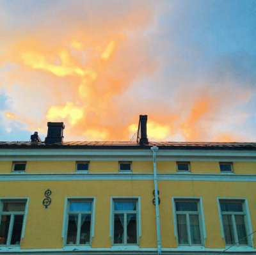
[[1,0],[0,141],[256,142],[255,0]]

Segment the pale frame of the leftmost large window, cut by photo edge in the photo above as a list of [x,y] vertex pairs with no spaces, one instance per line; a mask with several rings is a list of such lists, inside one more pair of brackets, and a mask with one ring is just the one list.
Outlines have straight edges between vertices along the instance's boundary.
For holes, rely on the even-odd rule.
[[[24,201],[26,203],[24,212],[22,213],[16,213],[16,212],[3,212],[3,202],[20,202]],[[27,221],[27,214],[28,214],[28,205],[29,205],[29,197],[0,197],[0,223],[1,223],[1,215],[10,215],[11,214],[11,219],[10,219],[10,225],[8,229],[8,237],[7,237],[7,242],[6,244],[0,245],[0,247],[20,247],[20,243],[22,242],[22,239],[24,238],[25,235],[25,229],[26,229],[26,221]],[[19,244],[10,244],[11,239],[12,239],[12,231],[13,231],[13,221],[14,217],[13,215],[24,215],[23,217],[23,223],[22,223],[22,229],[21,229],[21,234],[20,234],[20,243]]]

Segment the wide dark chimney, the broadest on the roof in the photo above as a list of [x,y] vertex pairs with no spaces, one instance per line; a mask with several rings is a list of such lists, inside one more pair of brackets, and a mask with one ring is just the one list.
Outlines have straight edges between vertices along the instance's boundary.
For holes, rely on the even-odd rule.
[[63,122],[48,122],[48,132],[45,138],[45,143],[63,143]]

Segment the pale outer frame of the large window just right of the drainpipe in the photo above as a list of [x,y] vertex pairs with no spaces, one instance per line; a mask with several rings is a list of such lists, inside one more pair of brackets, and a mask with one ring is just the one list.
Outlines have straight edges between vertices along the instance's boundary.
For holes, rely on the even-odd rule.
[[[178,226],[177,226],[177,213],[176,213],[175,201],[188,201],[188,202],[189,201],[197,201],[201,244],[192,244],[191,243],[190,231],[188,231],[189,244],[180,244],[179,243]],[[176,238],[177,245],[181,246],[181,247],[184,247],[184,246],[204,247],[205,246],[205,239],[207,238],[207,235],[206,235],[206,228],[205,228],[204,206],[203,206],[202,197],[172,197],[172,208],[173,208],[174,236]]]

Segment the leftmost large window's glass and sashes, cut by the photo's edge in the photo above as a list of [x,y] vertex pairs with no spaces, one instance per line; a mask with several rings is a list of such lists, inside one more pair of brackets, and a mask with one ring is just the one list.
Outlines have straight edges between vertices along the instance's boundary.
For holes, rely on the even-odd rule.
[[0,245],[19,245],[26,200],[0,201]]

